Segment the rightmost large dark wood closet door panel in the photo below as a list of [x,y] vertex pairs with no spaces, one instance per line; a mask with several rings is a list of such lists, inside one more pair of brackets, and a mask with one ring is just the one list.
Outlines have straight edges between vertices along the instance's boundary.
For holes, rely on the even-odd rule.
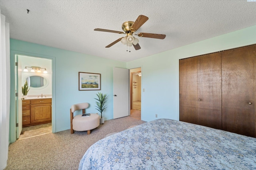
[[222,129],[255,137],[255,45],[222,52]]

